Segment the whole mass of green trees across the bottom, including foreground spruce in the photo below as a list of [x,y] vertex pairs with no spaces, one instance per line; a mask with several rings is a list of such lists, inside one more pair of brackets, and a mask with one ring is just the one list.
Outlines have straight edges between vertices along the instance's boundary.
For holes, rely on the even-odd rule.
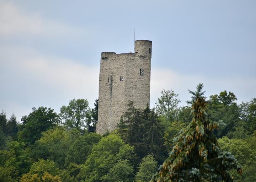
[[237,104],[231,91],[208,100],[201,90],[192,93],[183,107],[172,90],[161,92],[155,108],[130,101],[117,129],[102,136],[95,133],[97,100],[90,109],[87,100],[73,99],[59,114],[32,108],[21,123],[2,111],[0,181],[256,181],[256,98]]

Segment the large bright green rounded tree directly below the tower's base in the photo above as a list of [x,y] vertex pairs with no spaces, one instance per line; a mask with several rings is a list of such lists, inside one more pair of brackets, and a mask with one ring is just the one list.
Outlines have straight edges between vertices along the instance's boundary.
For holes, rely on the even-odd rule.
[[[87,182],[100,182],[103,176],[107,175],[110,177],[108,173],[113,173],[111,168],[113,168],[118,161],[127,160],[129,166],[133,166],[134,158],[134,147],[125,144],[119,136],[111,134],[107,137],[103,137],[98,144],[94,145],[92,153],[87,157],[85,164],[81,167],[79,176],[81,180]],[[118,166],[122,166],[122,162]],[[116,167],[117,166],[114,168]],[[123,170],[125,169],[126,167]],[[119,171],[123,172],[122,170]],[[122,175],[122,173],[117,175]],[[107,176],[105,176],[105,180],[111,180]],[[130,181],[132,181],[132,179]]]

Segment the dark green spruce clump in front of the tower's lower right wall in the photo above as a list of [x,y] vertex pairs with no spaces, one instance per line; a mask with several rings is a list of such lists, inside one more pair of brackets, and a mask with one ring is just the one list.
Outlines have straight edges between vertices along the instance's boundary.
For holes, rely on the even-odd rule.
[[127,112],[124,112],[118,124],[118,133],[126,143],[135,147],[139,159],[153,154],[159,162],[164,161],[166,148],[163,128],[158,115],[148,105],[142,110],[129,101]]

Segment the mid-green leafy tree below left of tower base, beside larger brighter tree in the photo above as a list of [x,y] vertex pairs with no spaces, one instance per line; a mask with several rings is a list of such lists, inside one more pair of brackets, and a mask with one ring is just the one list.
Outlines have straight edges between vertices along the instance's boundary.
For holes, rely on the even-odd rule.
[[70,163],[84,164],[87,156],[91,154],[92,147],[101,140],[101,135],[87,133],[75,140],[66,155],[66,166]]

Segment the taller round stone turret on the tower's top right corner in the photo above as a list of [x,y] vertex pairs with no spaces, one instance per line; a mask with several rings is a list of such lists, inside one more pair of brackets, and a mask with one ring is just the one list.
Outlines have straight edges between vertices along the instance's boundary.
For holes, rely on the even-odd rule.
[[135,54],[143,57],[150,57],[152,54],[152,41],[137,40],[135,41]]

